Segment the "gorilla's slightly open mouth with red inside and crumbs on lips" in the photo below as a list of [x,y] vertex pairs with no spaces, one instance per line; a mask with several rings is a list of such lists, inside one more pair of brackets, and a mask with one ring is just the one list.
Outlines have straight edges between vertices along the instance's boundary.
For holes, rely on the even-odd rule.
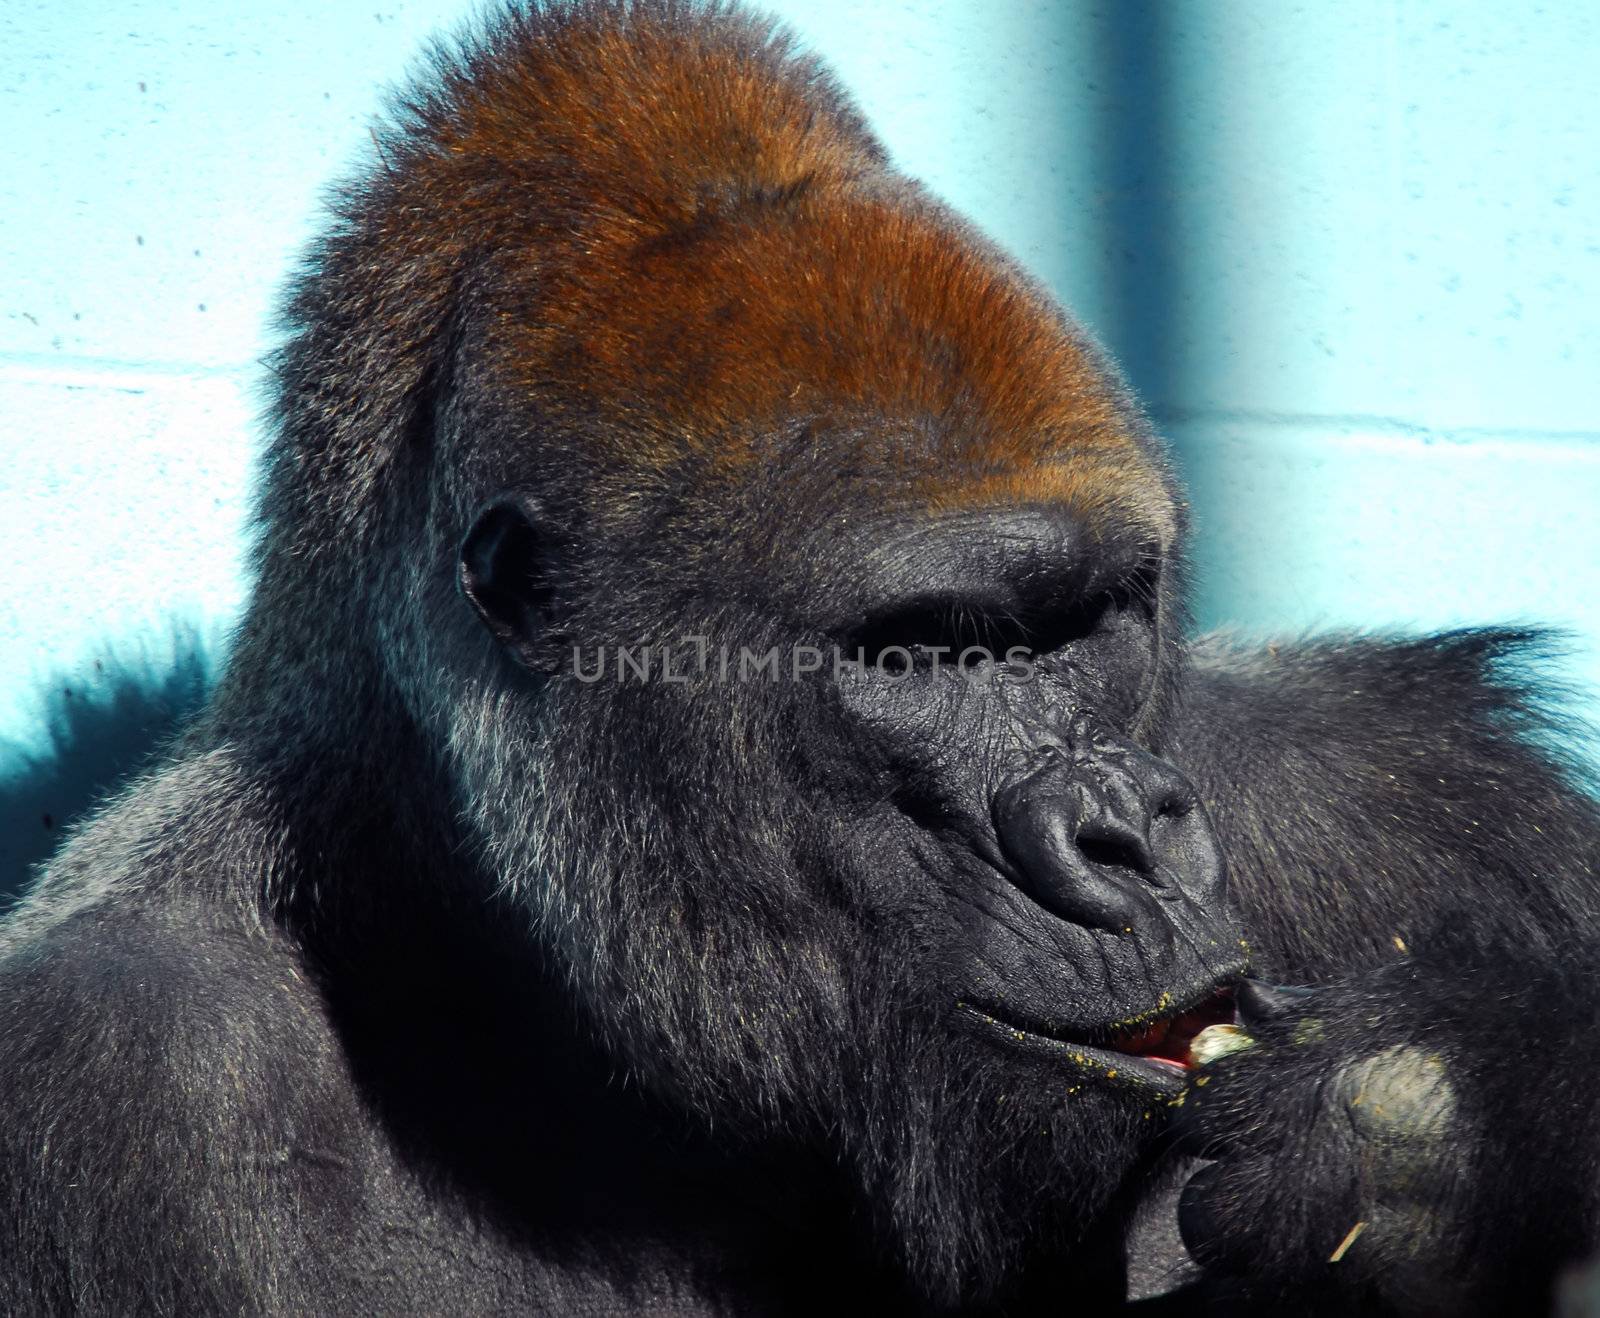
[[1173,1001],[1162,995],[1162,1006],[1133,1022],[1118,1022],[1082,1035],[1045,1032],[1005,1019],[994,1008],[962,1003],[968,1019],[990,1038],[1029,1052],[1062,1060],[1085,1076],[1112,1088],[1178,1092],[1195,1064],[1189,1049],[1210,1025],[1235,1024],[1234,990],[1210,984],[1200,993]]

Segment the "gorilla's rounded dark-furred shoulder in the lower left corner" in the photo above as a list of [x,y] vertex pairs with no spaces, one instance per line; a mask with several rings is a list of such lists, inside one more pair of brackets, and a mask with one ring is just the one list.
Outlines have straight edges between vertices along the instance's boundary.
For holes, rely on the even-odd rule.
[[378,1174],[314,985],[208,902],[114,897],[13,939],[0,1073],[11,1313],[259,1312]]

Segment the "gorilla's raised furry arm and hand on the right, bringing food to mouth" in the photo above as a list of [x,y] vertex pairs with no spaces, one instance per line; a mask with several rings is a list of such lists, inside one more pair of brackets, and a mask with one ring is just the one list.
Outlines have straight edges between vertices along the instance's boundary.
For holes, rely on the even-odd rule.
[[1218,1158],[1181,1208],[1205,1286],[1539,1312],[1518,1280],[1594,1248],[1600,819],[1517,681],[1536,641],[1197,646],[1174,760],[1258,973],[1325,985],[1178,1112]]

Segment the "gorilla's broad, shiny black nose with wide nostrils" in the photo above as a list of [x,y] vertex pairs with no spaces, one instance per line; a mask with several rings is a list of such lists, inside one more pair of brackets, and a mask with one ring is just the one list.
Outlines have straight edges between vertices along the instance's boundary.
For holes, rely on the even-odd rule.
[[1128,933],[1152,901],[1210,905],[1222,864],[1187,779],[1131,742],[1050,750],[994,801],[1013,877],[1046,910]]

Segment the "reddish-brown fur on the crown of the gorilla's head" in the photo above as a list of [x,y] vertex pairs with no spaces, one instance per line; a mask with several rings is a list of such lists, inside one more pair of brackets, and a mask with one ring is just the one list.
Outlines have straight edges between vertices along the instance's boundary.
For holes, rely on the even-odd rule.
[[[461,299],[478,357],[557,429],[582,419],[603,449],[579,457],[597,493],[637,493],[685,459],[733,477],[802,416],[842,473],[896,504],[1064,504],[1171,542],[1158,459],[1106,363],[886,165],[832,78],[770,24],[619,3],[518,24],[520,40],[445,62],[384,141],[390,170],[355,198],[355,242],[323,253],[322,286],[368,248],[408,264],[384,306],[304,317],[366,337],[336,349],[347,371],[293,381],[290,398],[326,406],[344,387],[357,398],[334,411],[362,416],[382,403],[365,381],[419,384],[445,299],[488,262],[493,291]],[[374,323],[381,366],[360,360]],[[368,457],[320,454],[330,475],[354,467],[342,499],[378,478],[382,454]]]

